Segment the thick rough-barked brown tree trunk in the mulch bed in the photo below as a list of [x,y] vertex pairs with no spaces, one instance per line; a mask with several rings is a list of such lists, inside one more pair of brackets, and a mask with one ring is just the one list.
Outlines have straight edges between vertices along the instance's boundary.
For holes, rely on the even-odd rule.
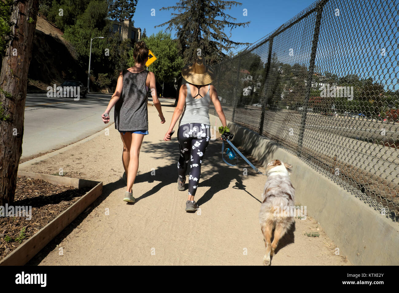
[[14,203],[18,164],[22,154],[24,108],[29,63],[39,0],[14,1],[8,42],[0,73],[0,206]]

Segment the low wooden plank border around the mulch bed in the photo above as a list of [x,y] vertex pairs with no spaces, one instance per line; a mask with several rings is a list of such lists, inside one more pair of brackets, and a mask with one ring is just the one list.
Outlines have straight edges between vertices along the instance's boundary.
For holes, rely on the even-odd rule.
[[78,188],[88,186],[92,187],[92,189],[41,228],[39,232],[30,237],[26,242],[20,244],[16,250],[0,261],[0,265],[25,265],[103,193],[103,182],[100,181],[23,171],[18,171],[18,176],[43,179],[49,183],[72,185]]

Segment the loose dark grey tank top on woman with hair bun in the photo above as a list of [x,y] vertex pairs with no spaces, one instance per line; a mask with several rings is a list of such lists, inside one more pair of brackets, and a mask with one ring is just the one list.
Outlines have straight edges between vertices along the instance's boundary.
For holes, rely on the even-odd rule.
[[115,104],[115,129],[120,131],[148,130],[146,79],[148,70],[123,71],[123,88]]

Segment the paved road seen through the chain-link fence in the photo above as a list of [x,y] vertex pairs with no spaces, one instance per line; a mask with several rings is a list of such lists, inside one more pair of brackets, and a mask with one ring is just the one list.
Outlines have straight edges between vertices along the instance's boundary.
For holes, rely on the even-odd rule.
[[[226,110],[225,110],[226,108]],[[225,113],[232,113],[223,107]],[[237,108],[235,122],[245,127],[259,127],[260,109]],[[263,130],[267,136],[283,141],[284,146],[298,146],[301,113],[289,110],[266,111]],[[384,130],[382,133],[381,130]],[[397,123],[375,120],[308,114],[304,128],[303,147],[318,159],[336,158],[341,165],[352,165],[367,172],[367,178],[376,175],[393,186],[399,185],[399,150],[393,142],[399,137]],[[367,140],[368,139],[368,140]],[[392,141],[391,147],[375,144],[375,140]],[[373,142],[370,142],[373,141]],[[354,174],[353,177],[360,177]],[[370,179],[371,180],[371,179]],[[368,183],[363,182],[364,185]],[[384,183],[386,184],[386,183]],[[392,190],[392,187],[390,187]],[[389,191],[387,191],[389,193]]]

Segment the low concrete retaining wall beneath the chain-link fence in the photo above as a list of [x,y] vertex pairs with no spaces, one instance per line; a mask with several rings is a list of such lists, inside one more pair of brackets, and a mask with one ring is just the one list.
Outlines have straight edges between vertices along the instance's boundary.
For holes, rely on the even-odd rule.
[[[217,116],[209,118],[211,125],[221,125]],[[318,220],[341,256],[348,256],[354,265],[399,265],[398,223],[256,132],[231,122],[227,126],[235,146],[243,147],[264,167],[273,159],[292,164],[296,202],[307,206],[307,214]]]

